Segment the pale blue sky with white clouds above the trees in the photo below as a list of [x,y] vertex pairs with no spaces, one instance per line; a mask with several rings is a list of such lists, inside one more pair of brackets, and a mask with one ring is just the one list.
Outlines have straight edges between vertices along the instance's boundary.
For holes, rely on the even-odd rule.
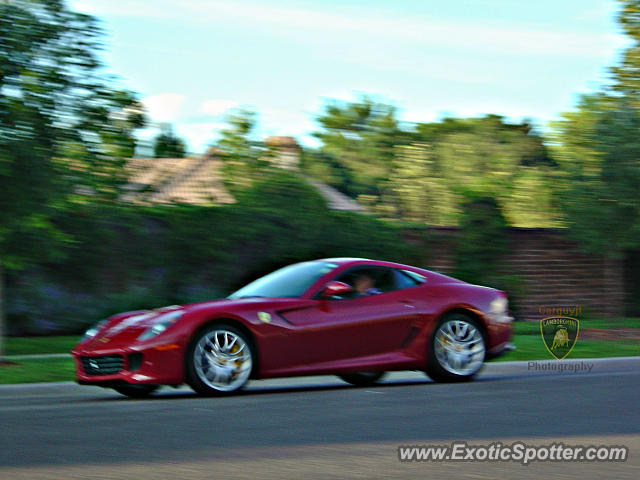
[[406,122],[500,114],[541,129],[598,89],[625,46],[615,0],[70,0],[105,31],[109,73],[140,96],[149,139],[192,153],[234,108],[257,136],[315,145],[330,99],[366,94]]

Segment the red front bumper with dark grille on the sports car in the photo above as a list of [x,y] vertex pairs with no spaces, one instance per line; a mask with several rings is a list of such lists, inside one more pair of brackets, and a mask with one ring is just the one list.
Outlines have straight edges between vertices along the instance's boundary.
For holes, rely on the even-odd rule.
[[71,352],[76,381],[82,385],[180,385],[184,382],[183,350],[178,345],[83,349]]

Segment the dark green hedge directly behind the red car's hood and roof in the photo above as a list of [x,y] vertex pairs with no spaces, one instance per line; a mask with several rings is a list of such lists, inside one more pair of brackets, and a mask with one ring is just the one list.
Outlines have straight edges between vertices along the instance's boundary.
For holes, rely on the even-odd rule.
[[89,204],[58,213],[53,222],[76,245],[13,276],[13,333],[75,333],[117,312],[219,298],[292,262],[365,256],[415,264],[425,255],[396,225],[329,210],[287,171],[256,180],[230,205]]

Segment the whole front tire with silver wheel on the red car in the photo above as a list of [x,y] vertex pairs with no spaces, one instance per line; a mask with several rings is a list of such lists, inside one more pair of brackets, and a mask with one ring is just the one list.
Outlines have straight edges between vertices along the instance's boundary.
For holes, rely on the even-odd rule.
[[239,329],[214,324],[200,331],[186,354],[187,383],[200,395],[225,395],[249,380],[255,350]]

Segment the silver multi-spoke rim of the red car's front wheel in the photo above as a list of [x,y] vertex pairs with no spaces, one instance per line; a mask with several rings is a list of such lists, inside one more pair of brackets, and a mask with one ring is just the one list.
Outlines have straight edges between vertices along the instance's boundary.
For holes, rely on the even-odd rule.
[[245,340],[224,327],[203,335],[193,350],[195,373],[213,390],[231,392],[251,374],[251,349]]

